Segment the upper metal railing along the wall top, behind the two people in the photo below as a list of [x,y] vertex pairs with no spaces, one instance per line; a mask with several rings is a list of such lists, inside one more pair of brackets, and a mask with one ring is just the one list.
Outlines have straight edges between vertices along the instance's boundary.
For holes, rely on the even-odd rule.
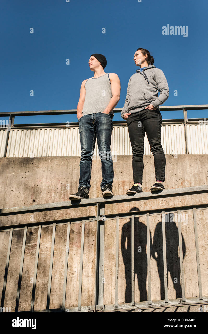
[[[187,124],[196,124],[196,122],[199,122],[199,118],[195,119],[189,119],[187,116],[187,110],[203,110],[208,109],[208,105],[186,105],[186,106],[160,106],[161,111],[176,111],[181,110],[183,111],[183,119],[172,119],[172,120],[163,120],[163,125],[165,124],[184,124],[185,127],[185,146],[186,146],[186,154],[188,153],[187,148],[187,130],[186,125]],[[114,113],[121,113],[122,108],[115,108],[113,110]],[[14,125],[14,118],[15,116],[41,116],[41,115],[74,115],[77,113],[76,109],[72,110],[41,110],[41,111],[22,111],[22,112],[2,112],[0,113],[0,117],[9,117],[9,122],[7,126],[7,135],[6,135],[6,142],[5,142],[5,149],[4,149],[4,156],[6,157],[7,154],[7,146],[9,141],[9,131],[14,129],[46,129],[46,128],[70,128],[70,127],[78,127],[78,122],[70,123],[70,125],[66,125],[66,123],[45,123],[45,124],[18,124]],[[114,126],[123,126],[127,125],[126,121],[114,121]],[[6,125],[5,125],[6,128]],[[4,128],[4,130],[5,130]]]

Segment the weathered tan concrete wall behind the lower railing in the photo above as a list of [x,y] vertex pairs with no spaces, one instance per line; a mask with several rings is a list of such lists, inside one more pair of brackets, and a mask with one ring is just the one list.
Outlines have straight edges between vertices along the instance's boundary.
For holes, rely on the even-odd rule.
[[[75,193],[79,184],[79,157],[34,157],[1,158],[1,194],[0,207],[30,206],[51,202],[67,201],[70,193]],[[166,155],[166,189],[191,187],[208,184],[208,155]],[[92,165],[90,197],[101,197],[101,162],[94,160]],[[144,156],[143,191],[150,191],[155,182],[154,160],[152,155]],[[113,192],[125,194],[133,184],[132,157],[118,156],[114,163]],[[69,188],[69,189],[68,189]],[[148,210],[182,205],[208,203],[208,194],[187,195],[145,201],[132,201],[106,205],[105,213]],[[136,208],[136,209],[135,209]],[[199,295],[194,242],[193,214],[188,212],[187,224],[182,223],[186,297]],[[31,221],[63,219],[76,216],[96,215],[96,206],[82,209],[46,211],[43,213],[18,214],[0,217],[0,225],[20,224]],[[200,247],[200,265],[203,296],[208,296],[207,264],[208,210],[197,210],[198,238]],[[151,289],[152,300],[164,299],[163,256],[162,256],[161,215],[150,216],[151,232]],[[71,224],[70,248],[67,276],[66,307],[77,306],[79,284],[79,262],[81,244],[81,223]],[[66,250],[67,225],[57,225],[54,249],[54,262],[51,287],[50,308],[59,308],[62,304],[62,289]],[[14,230],[5,307],[14,309],[19,277],[23,230]],[[32,294],[31,278],[34,274],[35,252],[38,228],[28,228],[23,267],[22,287],[19,310],[29,310]],[[178,257],[177,219],[166,223],[166,247],[168,267],[168,297],[181,297],[180,283],[174,278],[180,277]],[[3,287],[4,269],[7,256],[9,232],[0,232],[0,291]],[[45,309],[47,300],[48,274],[52,227],[42,228],[41,245],[36,285],[35,309]],[[82,306],[94,303],[96,222],[86,222]],[[119,303],[131,301],[131,221],[120,219],[119,223]],[[114,304],[115,298],[115,244],[116,221],[105,221],[105,259],[104,259],[104,304]],[[138,247],[141,246],[141,253]],[[146,254],[146,217],[135,218],[135,301],[147,300],[147,254]],[[172,278],[171,278],[172,276]]]

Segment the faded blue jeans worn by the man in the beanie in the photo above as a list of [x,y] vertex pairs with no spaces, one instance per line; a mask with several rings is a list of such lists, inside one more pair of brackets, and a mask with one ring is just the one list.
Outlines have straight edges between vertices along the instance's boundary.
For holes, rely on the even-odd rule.
[[83,115],[78,120],[79,135],[81,144],[81,159],[80,159],[80,177],[79,187],[91,187],[91,169],[92,158],[95,149],[95,141],[97,138],[99,156],[102,166],[102,182],[100,184],[103,190],[105,184],[112,186],[113,183],[113,160],[110,151],[111,133],[113,130],[113,121],[111,115],[103,113],[94,113]]

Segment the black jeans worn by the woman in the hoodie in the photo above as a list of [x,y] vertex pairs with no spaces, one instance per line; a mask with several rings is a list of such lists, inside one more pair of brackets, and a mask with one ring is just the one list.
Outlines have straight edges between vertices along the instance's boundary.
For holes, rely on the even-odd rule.
[[166,159],[161,145],[162,115],[160,109],[144,109],[129,115],[126,121],[132,146],[134,183],[142,184],[145,132],[150,144],[150,151],[154,156],[156,180],[165,181]]

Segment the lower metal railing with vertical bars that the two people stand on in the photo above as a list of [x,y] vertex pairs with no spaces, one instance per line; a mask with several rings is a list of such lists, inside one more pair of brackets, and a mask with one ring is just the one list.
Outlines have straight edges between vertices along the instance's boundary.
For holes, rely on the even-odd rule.
[[[60,209],[69,209],[76,207],[86,207],[86,206],[97,206],[96,216],[84,216],[84,217],[75,217],[69,219],[61,220],[49,220],[44,222],[30,222],[22,223],[16,225],[5,225],[0,226],[0,232],[9,231],[9,242],[6,258],[6,267],[4,274],[3,290],[1,297],[1,307],[4,307],[5,292],[7,286],[7,275],[9,269],[11,245],[12,245],[12,236],[13,231],[16,229],[24,230],[23,243],[22,243],[22,253],[20,261],[20,270],[19,270],[19,279],[16,295],[16,306],[15,312],[19,310],[19,300],[20,300],[20,290],[21,282],[23,275],[23,264],[25,256],[25,246],[26,246],[26,235],[28,228],[38,228],[37,236],[37,248],[36,248],[36,257],[35,257],[35,267],[34,267],[34,277],[33,277],[33,288],[32,288],[32,298],[31,298],[31,308],[30,312],[37,312],[34,310],[34,301],[35,301],[35,292],[36,292],[36,281],[37,281],[37,271],[38,271],[38,260],[39,260],[39,249],[40,249],[40,240],[41,240],[41,229],[42,226],[53,226],[52,232],[52,244],[51,244],[51,255],[50,255],[50,268],[49,268],[49,277],[48,277],[48,292],[47,292],[47,303],[46,309],[40,310],[39,312],[88,312],[88,311],[104,311],[104,310],[126,310],[126,309],[135,309],[135,308],[154,308],[161,307],[165,305],[177,306],[181,305],[193,305],[193,304],[203,304],[208,301],[208,297],[202,295],[202,280],[201,280],[201,270],[200,270],[200,258],[199,258],[199,243],[198,243],[198,232],[197,232],[197,210],[208,209],[208,203],[206,204],[197,204],[189,206],[177,206],[169,208],[159,208],[153,210],[143,210],[143,211],[132,211],[132,212],[120,212],[120,213],[111,213],[105,214],[105,205],[113,203],[127,203],[131,201],[143,201],[148,199],[156,198],[167,198],[174,196],[183,196],[183,195],[192,195],[192,194],[203,194],[208,192],[208,186],[197,186],[197,187],[188,187],[188,188],[179,188],[172,190],[163,190],[162,192],[151,193],[138,193],[134,196],[127,195],[118,195],[113,196],[109,199],[102,198],[93,198],[85,199],[81,201],[73,202],[58,202],[50,204],[39,204],[32,205],[28,207],[16,207],[16,208],[4,208],[0,210],[0,216],[8,216],[15,214],[31,213],[31,212],[41,212],[41,211],[51,211],[51,210],[60,210]],[[194,233],[195,233],[195,248],[196,248],[196,261],[197,261],[197,275],[198,275],[198,290],[199,294],[196,298],[186,298],[185,291],[185,276],[184,276],[184,264],[183,264],[183,247],[182,247],[182,233],[181,233],[181,220],[180,212],[186,211],[193,212],[193,222],[194,222]],[[171,300],[169,303],[168,299],[168,283],[167,283],[167,264],[166,264],[166,230],[165,230],[165,214],[168,213],[177,213],[178,215],[178,239],[179,239],[179,252],[180,252],[180,275],[181,275],[181,298],[176,300]],[[165,299],[159,302],[152,301],[151,298],[151,271],[150,271],[150,257],[151,257],[151,245],[150,245],[150,224],[149,217],[151,215],[162,215],[162,244],[163,244],[163,272],[164,272],[164,291]],[[148,279],[148,299],[144,302],[135,302],[135,275],[134,275],[134,221],[136,217],[146,216],[146,231],[147,231],[147,279]],[[119,221],[120,219],[130,218],[131,219],[131,303],[125,303],[125,305],[118,303],[118,280],[119,280]],[[105,221],[116,219],[116,263],[115,263],[115,303],[105,304],[103,303],[103,277],[104,277],[104,235],[105,235]],[[83,253],[84,253],[84,232],[85,232],[85,223],[96,221],[96,259],[95,259],[95,294],[94,294],[94,305],[82,305],[82,274],[83,274]],[[70,227],[74,223],[82,224],[81,231],[81,253],[80,253],[80,269],[79,269],[79,288],[78,288],[78,300],[77,307],[66,307],[66,286],[67,286],[67,269],[68,269],[68,255],[69,255],[69,240],[70,240]],[[206,222],[204,222],[206,223]],[[56,226],[66,224],[67,225],[67,237],[66,237],[66,253],[65,253],[65,267],[64,267],[64,283],[63,283],[63,297],[62,297],[62,307],[60,309],[50,309],[50,296],[51,296],[51,283],[52,283],[52,271],[53,271],[53,257],[54,257],[54,244],[55,244],[55,234]],[[179,278],[180,279],[180,278]],[[27,310],[26,310],[27,311]],[[28,312],[28,311],[27,311]]]

